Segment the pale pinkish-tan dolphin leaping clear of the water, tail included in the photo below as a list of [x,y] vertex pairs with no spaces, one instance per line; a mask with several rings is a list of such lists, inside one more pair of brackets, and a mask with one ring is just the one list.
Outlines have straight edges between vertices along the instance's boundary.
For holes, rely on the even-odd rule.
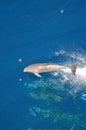
[[71,67],[62,66],[54,63],[37,63],[25,67],[23,72],[33,73],[37,77],[42,77],[40,73],[43,72],[51,72],[51,71],[57,71],[62,69],[71,69],[72,74],[75,75],[77,65],[78,62],[73,64]]

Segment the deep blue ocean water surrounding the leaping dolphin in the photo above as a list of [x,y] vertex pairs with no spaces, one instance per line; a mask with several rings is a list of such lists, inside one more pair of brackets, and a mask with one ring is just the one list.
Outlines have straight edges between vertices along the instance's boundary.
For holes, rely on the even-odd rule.
[[[0,130],[86,130],[84,81],[78,84],[70,79],[75,84],[69,90],[71,83],[62,86],[58,75],[42,74],[40,85],[38,77],[23,73],[24,67],[39,62],[80,61],[86,66],[85,57],[85,0],[0,1]],[[65,90],[46,90],[50,98],[44,95],[40,100],[39,86],[51,79],[52,86],[59,84]],[[33,92],[37,97],[30,96]]]

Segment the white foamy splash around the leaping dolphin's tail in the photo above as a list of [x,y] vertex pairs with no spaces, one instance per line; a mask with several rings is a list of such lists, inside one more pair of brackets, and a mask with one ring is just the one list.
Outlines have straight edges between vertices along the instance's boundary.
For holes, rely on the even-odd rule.
[[79,65],[76,70],[76,75],[73,76],[71,73],[71,69],[64,69],[61,71],[56,71],[52,73],[54,78],[59,78],[59,81],[65,85],[65,83],[69,83],[70,86],[70,93],[74,94],[78,91],[86,88],[86,54],[80,52],[67,52],[65,50],[56,51],[55,56],[57,58],[63,56],[64,59],[66,57],[66,61],[63,61],[63,65],[70,66],[74,64],[74,62],[79,62]]

